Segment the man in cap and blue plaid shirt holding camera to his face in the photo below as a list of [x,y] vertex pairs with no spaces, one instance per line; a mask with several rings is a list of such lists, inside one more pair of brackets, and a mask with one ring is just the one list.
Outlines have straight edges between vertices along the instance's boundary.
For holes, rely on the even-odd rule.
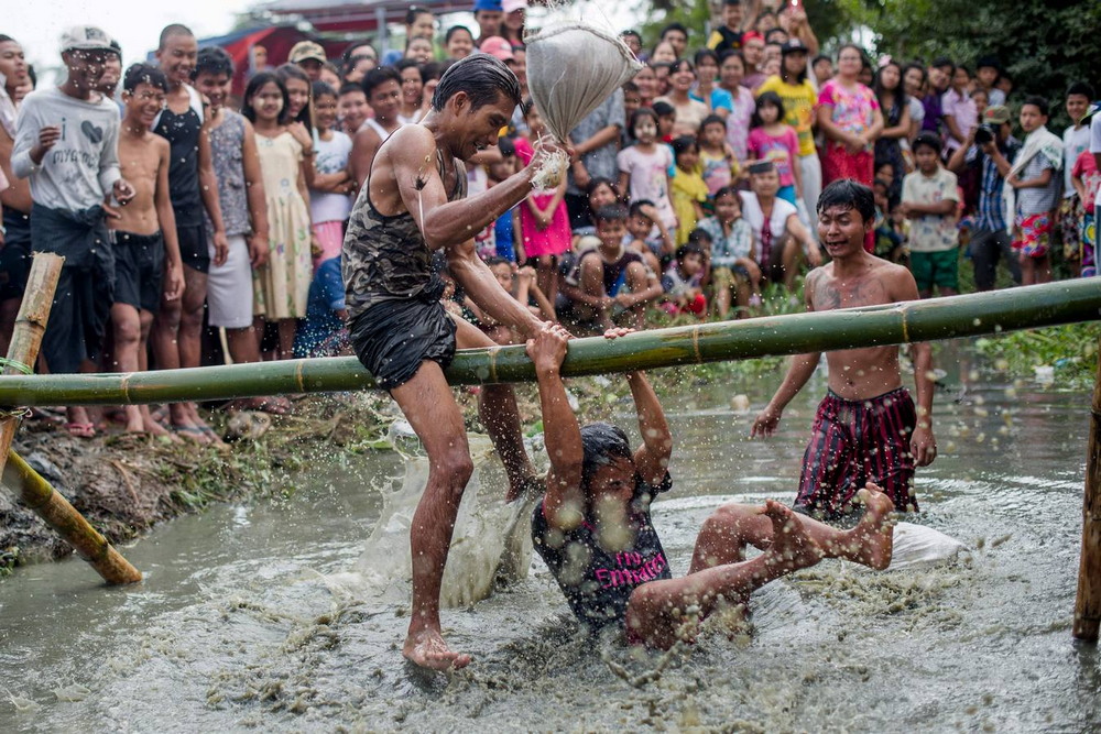
[[[982,118],[983,132],[973,128],[967,143],[956,149],[947,167],[959,174],[967,168],[980,173],[979,209],[974,227],[971,229],[971,262],[974,264],[974,285],[979,291],[993,291],[998,273],[998,261],[1005,259],[1013,282],[1021,283],[1021,265],[1011,249],[1010,234],[1005,228],[1005,212],[1002,194],[1005,176],[1016,160],[1021,143],[1011,134],[1010,110],[1001,105],[986,108]],[[982,142],[978,142],[977,138]]]

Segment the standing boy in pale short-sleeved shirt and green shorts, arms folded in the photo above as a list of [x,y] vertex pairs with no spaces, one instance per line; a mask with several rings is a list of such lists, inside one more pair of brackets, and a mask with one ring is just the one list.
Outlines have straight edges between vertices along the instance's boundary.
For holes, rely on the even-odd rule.
[[923,132],[914,140],[917,171],[902,183],[900,211],[911,220],[909,269],[923,298],[937,286],[941,296],[959,291],[956,174],[940,165],[940,139]]

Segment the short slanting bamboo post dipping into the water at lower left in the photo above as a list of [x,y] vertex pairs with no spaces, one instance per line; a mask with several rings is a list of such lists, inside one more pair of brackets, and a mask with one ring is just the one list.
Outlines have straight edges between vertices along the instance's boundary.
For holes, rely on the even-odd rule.
[[8,452],[3,481],[8,486],[19,489],[23,504],[65,538],[105,581],[111,584],[141,581],[141,571],[131,566],[68,500],[14,451]]

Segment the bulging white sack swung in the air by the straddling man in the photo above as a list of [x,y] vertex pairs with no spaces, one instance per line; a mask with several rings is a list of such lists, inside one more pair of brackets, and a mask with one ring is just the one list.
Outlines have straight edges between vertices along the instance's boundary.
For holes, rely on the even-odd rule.
[[[574,128],[642,68],[619,36],[581,21],[553,23],[524,43],[527,89],[559,143],[568,142]],[[536,187],[556,186],[568,163],[565,153],[546,161]]]

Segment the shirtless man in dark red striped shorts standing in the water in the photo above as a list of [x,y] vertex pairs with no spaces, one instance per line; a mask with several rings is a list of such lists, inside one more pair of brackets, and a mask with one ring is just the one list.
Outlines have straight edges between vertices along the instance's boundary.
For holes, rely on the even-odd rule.
[[[872,189],[838,180],[818,199],[818,239],[832,258],[807,275],[808,311],[917,300],[909,271],[869,254],[874,227]],[[913,344],[917,409],[902,386],[898,347],[846,349],[826,354],[829,392],[818,406],[803,459],[795,510],[838,519],[866,482],[883,487],[895,507],[916,511],[914,468],[937,456],[933,437],[933,361],[928,344]],[[803,388],[821,354],[798,354],[772,401],[753,421],[752,436],[772,436],[784,408]]]

